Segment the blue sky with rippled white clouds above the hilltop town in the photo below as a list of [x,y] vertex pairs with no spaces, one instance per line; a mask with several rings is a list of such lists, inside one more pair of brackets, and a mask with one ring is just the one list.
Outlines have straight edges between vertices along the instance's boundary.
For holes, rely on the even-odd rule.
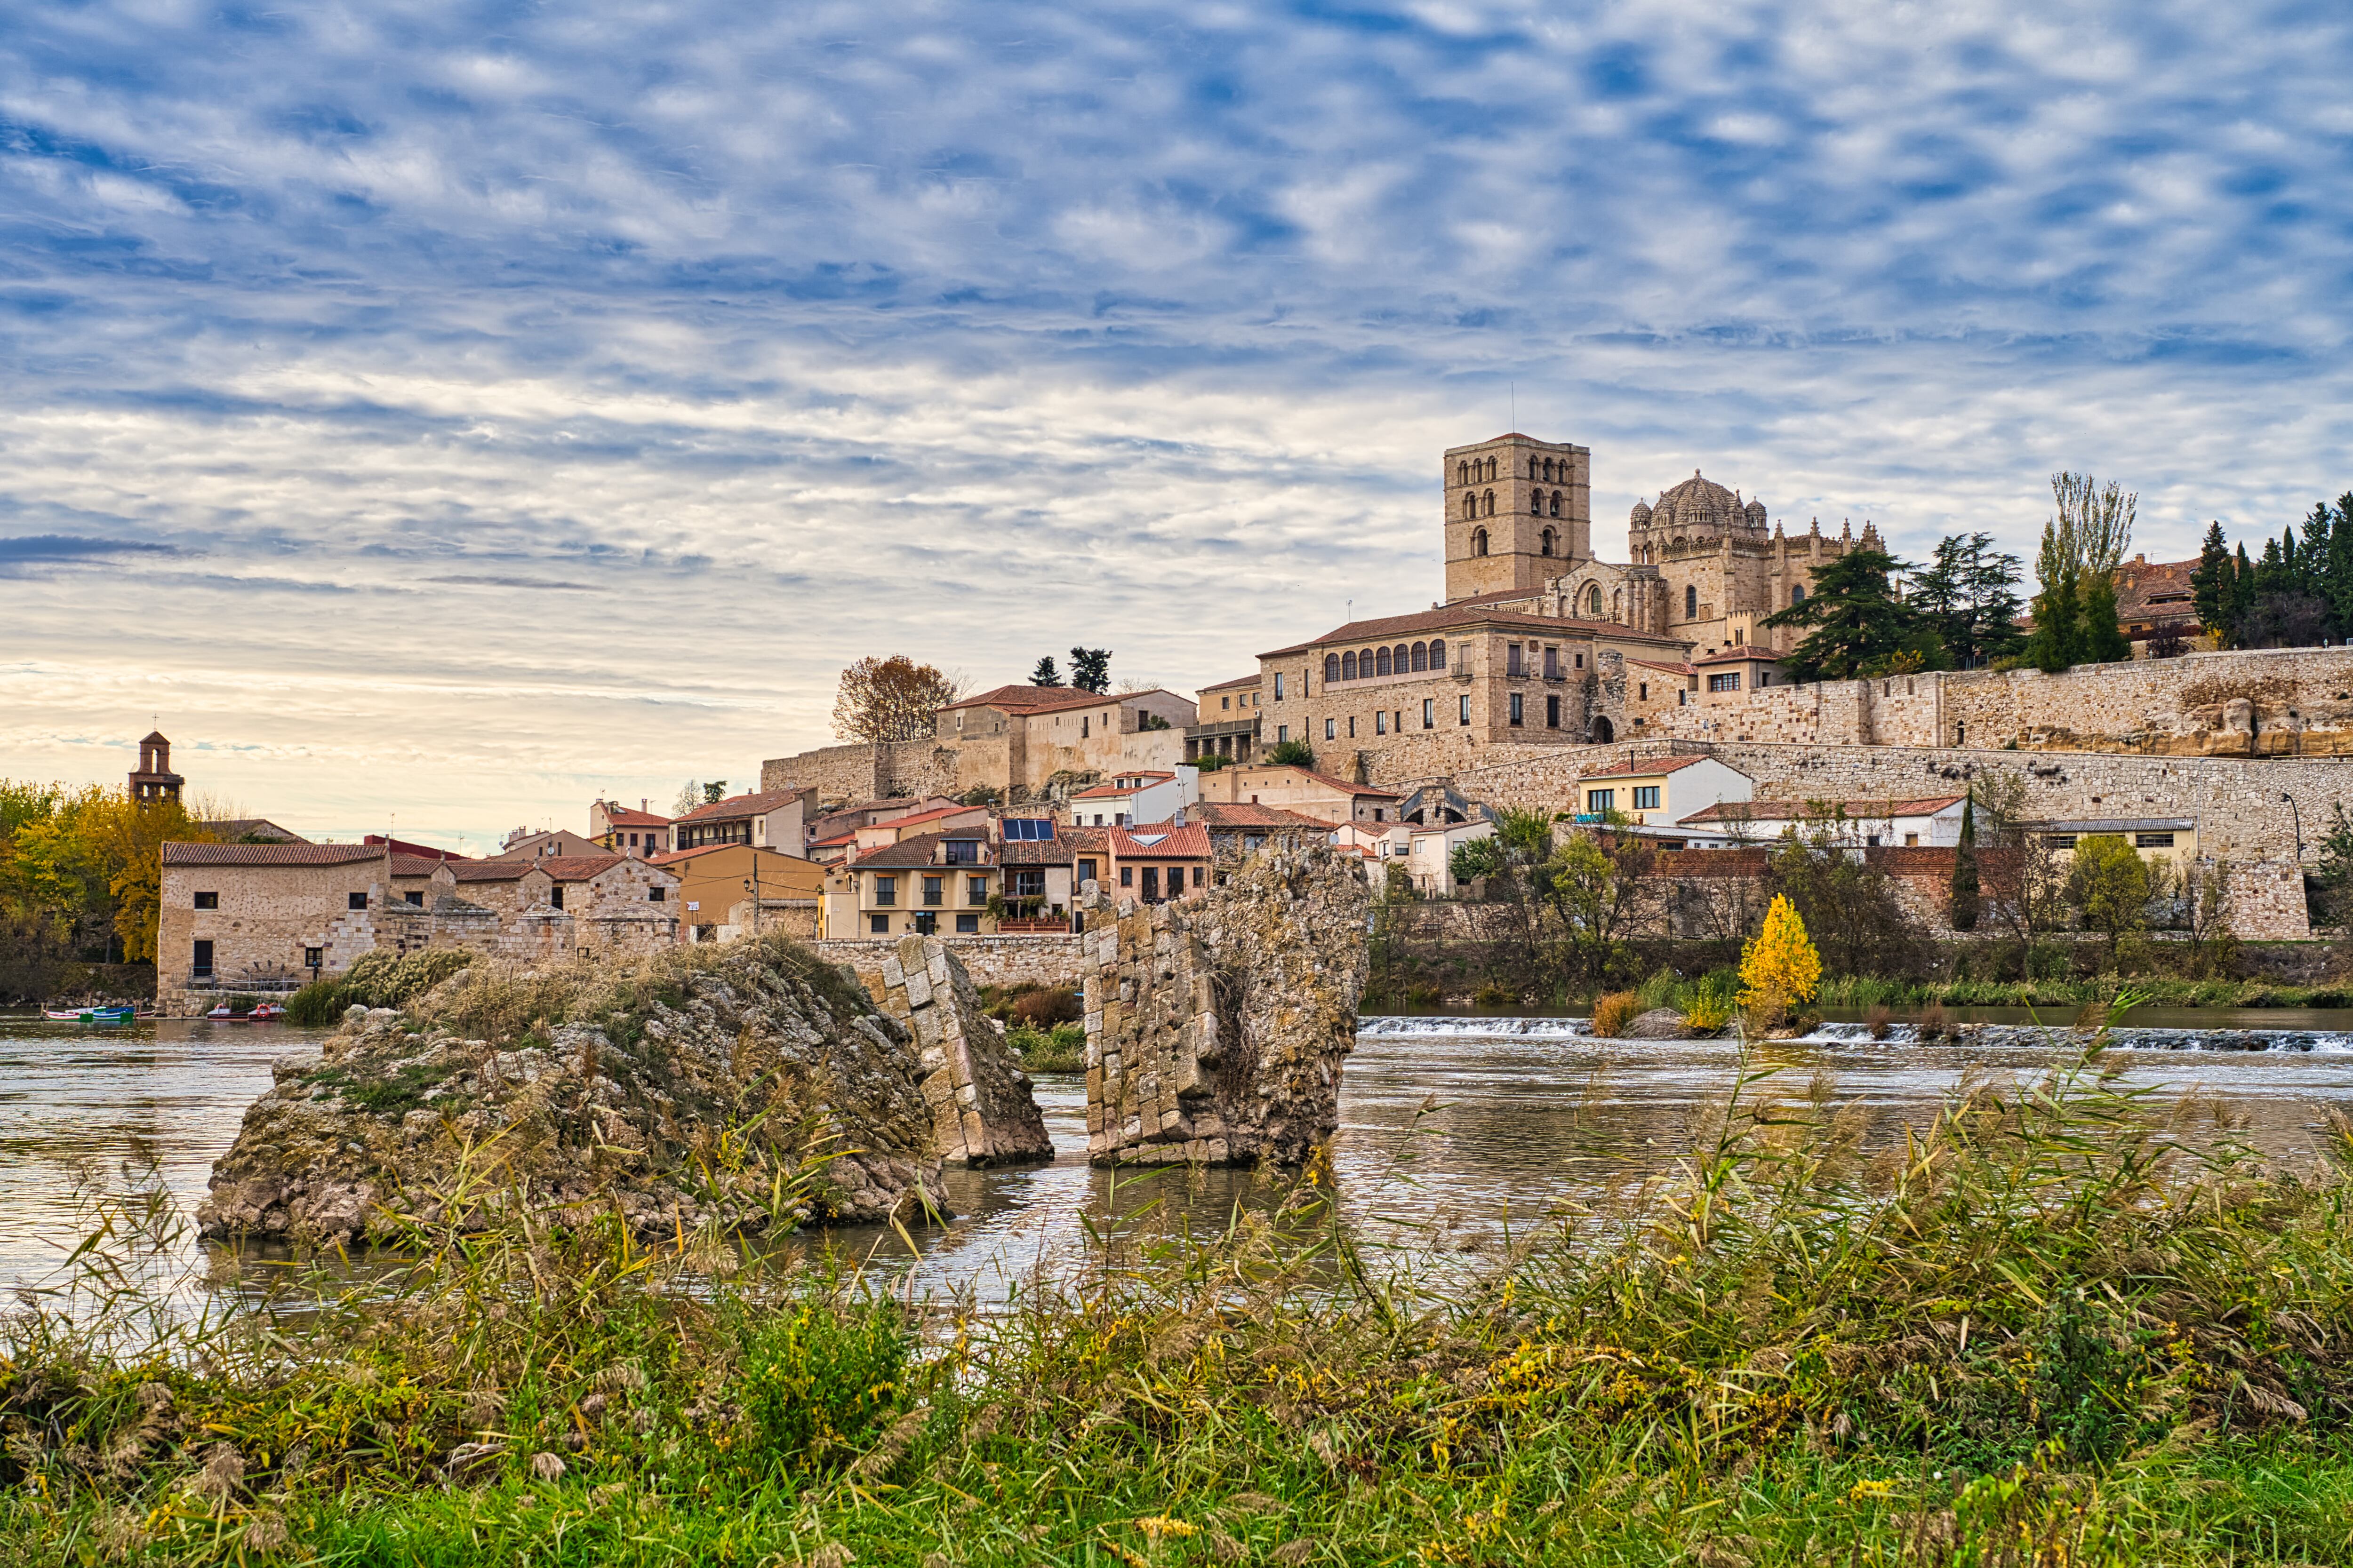
[[1899,555],[2353,487],[2353,12],[0,12],[0,776],[489,849],[864,654],[1179,691],[1442,592],[1440,451]]

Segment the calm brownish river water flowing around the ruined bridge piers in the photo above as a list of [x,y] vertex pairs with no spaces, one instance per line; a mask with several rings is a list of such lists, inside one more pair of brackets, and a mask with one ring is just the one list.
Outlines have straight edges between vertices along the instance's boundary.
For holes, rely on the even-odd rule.
[[[1407,1253],[1478,1251],[1562,1204],[1668,1171],[1732,1088],[1737,1046],[1581,1030],[1569,1018],[1367,1018],[1332,1145],[1348,1225]],[[2122,1039],[2134,1046],[2118,1053],[2125,1081],[2212,1098],[2245,1140],[2278,1159],[2311,1159],[2329,1107],[2353,1114],[2353,1013],[2139,1013]],[[282,1025],[0,1016],[0,1286],[56,1274],[82,1234],[75,1194],[94,1185],[160,1187],[193,1213],[212,1161],[268,1088],[271,1060],[315,1048],[315,1034]],[[1965,1074],[2031,1077],[2066,1053],[2061,1037],[2031,1030],[1955,1046],[1918,1044],[1901,1027],[1873,1041],[1861,1025],[1833,1023],[1760,1046],[1751,1065],[1777,1070],[1765,1091],[1798,1098],[1819,1084],[1861,1105],[1873,1135],[1894,1138],[1929,1121]],[[1040,1077],[1038,1098],[1061,1154],[1045,1166],[951,1173],[958,1218],[918,1234],[920,1255],[894,1232],[833,1232],[800,1246],[871,1260],[915,1291],[1000,1300],[1038,1272],[1082,1260],[1089,1222],[1096,1234],[1106,1225],[1221,1227],[1238,1204],[1280,1197],[1271,1178],[1240,1171],[1094,1171],[1082,1081]],[[181,1244],[179,1253],[186,1288],[235,1276],[216,1248]]]

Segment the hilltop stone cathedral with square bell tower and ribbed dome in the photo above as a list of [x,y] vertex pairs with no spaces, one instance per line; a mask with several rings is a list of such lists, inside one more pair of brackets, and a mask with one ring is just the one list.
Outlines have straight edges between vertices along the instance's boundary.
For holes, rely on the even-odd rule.
[[[1588,447],[1501,435],[1449,447],[1447,604],[1624,628],[1687,644],[1685,658],[1727,649],[1786,654],[1800,639],[1765,616],[1805,602],[1814,574],[1857,541],[1800,536],[1772,524],[1762,501],[1704,477],[1638,501],[1626,520],[1626,559],[1593,555],[1593,454]],[[1864,524],[1861,543],[1880,548]]]

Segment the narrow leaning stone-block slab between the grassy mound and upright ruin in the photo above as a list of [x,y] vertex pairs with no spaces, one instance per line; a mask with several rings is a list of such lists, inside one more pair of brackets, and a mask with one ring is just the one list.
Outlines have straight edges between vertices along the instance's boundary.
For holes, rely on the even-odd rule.
[[1005,1025],[981,1011],[972,976],[936,936],[908,936],[882,959],[882,1011],[915,1039],[932,1138],[951,1166],[1054,1159],[1028,1074]]

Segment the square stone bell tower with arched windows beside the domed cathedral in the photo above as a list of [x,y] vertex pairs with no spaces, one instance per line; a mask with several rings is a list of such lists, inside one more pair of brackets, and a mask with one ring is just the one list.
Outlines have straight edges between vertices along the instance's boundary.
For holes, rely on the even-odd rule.
[[1593,451],[1529,435],[1447,447],[1447,602],[1544,592],[1593,559]]

